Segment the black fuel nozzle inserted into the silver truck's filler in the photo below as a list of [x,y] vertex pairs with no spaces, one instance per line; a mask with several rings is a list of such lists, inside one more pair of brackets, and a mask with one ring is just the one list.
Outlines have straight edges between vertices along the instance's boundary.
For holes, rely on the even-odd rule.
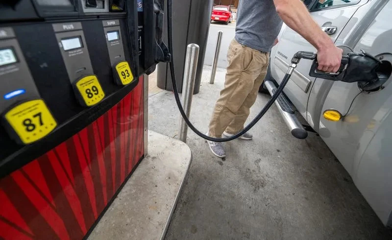
[[319,62],[317,54],[313,52],[299,51],[295,53],[292,63],[297,64],[301,58],[313,60],[309,75],[323,79],[343,82],[373,82],[378,79],[377,68],[381,61],[369,55],[351,52],[342,56],[341,66],[338,72],[322,72],[318,70]]

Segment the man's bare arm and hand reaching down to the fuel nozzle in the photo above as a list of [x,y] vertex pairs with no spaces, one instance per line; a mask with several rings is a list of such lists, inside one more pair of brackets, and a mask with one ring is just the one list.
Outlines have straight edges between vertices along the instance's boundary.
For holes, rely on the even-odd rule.
[[301,0],[273,0],[273,2],[283,22],[317,49],[319,70],[337,72],[343,50],[335,47],[333,41],[310,16],[303,2]]

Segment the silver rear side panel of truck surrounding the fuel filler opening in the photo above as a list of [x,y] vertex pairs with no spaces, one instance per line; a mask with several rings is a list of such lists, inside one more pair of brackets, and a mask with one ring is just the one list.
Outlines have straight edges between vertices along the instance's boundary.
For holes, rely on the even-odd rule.
[[[354,52],[362,49],[374,56],[389,53],[382,54],[383,61],[392,62],[392,1],[384,3],[384,8],[359,39]],[[392,220],[391,81],[390,77],[381,91],[360,95],[357,84],[335,82],[322,111],[335,108],[345,114],[349,110],[348,115],[339,122],[320,118],[320,124],[329,130],[330,137],[320,136],[350,173],[355,185],[384,224]],[[354,99],[353,95],[358,95],[354,101],[349,97]]]

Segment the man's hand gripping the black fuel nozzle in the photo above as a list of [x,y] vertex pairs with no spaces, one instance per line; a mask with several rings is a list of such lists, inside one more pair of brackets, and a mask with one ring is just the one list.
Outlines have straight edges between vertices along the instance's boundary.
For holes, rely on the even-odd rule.
[[318,69],[323,72],[338,72],[342,61],[342,54],[343,49],[335,46],[319,49],[317,52]]

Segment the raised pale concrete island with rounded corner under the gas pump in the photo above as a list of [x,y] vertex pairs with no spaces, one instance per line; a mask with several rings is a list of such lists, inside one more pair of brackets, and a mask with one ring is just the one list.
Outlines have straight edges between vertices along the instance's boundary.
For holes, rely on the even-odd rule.
[[157,240],[164,236],[191,160],[186,144],[148,131],[148,155],[88,240]]

